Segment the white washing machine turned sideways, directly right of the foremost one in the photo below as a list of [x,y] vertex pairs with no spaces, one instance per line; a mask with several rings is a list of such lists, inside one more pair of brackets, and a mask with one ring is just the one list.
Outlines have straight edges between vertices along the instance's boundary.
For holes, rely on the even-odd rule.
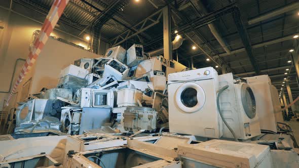
[[[232,73],[219,75],[218,79],[219,89],[229,86],[220,95],[220,109],[236,138],[246,140],[260,135],[255,98],[246,80],[234,79]],[[224,122],[222,137],[234,138]]]

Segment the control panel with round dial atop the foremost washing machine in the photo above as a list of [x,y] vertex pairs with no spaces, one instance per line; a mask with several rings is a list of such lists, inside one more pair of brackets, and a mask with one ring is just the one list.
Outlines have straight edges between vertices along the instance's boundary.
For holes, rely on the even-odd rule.
[[168,82],[212,79],[217,75],[218,73],[214,68],[206,67],[184,72],[171,73],[168,75]]

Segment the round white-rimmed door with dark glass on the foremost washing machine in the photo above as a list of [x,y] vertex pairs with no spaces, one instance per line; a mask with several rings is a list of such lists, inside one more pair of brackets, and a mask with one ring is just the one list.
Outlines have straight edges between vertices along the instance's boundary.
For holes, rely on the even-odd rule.
[[205,104],[204,90],[195,82],[186,82],[175,93],[175,102],[179,109],[186,113],[199,111]]

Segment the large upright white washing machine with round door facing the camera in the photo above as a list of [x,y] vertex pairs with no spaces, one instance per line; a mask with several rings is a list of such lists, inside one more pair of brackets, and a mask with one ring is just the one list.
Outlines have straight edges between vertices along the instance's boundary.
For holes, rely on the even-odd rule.
[[168,75],[169,129],[208,138],[222,136],[217,110],[218,74],[212,67]]

